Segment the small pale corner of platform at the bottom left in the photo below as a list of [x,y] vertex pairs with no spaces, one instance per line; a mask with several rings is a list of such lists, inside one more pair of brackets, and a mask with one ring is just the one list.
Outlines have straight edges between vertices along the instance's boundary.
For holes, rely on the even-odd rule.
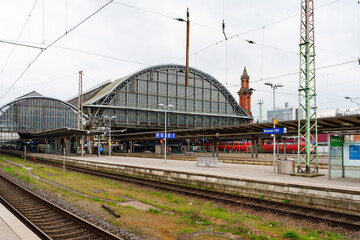
[[40,238],[0,204],[0,240],[40,240]]

